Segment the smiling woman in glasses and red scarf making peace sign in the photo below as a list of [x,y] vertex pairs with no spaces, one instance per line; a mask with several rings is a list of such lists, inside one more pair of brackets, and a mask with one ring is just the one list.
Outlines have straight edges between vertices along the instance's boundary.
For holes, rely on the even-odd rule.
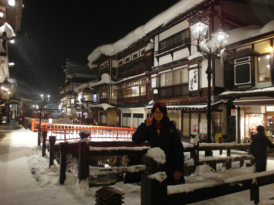
[[167,107],[163,103],[155,103],[151,114],[141,123],[132,135],[132,141],[141,144],[145,141],[150,147],[161,148],[166,155],[166,174],[168,185],[183,184],[183,144],[176,126],[167,116]]

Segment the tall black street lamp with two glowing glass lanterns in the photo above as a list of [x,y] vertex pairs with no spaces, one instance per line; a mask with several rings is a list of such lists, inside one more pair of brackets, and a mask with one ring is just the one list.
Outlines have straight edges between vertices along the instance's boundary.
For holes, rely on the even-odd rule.
[[[211,110],[211,78],[212,78],[212,67],[211,67],[211,60],[212,58],[217,58],[219,55],[216,55],[211,52],[211,48],[208,48],[208,52],[206,52],[206,49],[203,49],[203,51],[200,50],[200,41],[204,41],[204,37],[206,35],[206,32],[208,30],[209,25],[205,24],[202,22],[202,19],[200,16],[198,16],[197,21],[195,24],[189,26],[190,32],[192,34],[192,37],[194,40],[197,40],[197,51],[198,52],[203,52],[208,55],[207,58],[207,69],[206,69],[206,74],[207,74],[207,81],[208,81],[208,86],[207,86],[207,142],[211,143],[211,117],[212,117],[212,110]],[[227,32],[223,31],[222,25],[219,26],[218,31],[211,34],[212,40],[215,43],[215,46],[219,49],[219,53],[221,49],[223,49],[227,43],[229,34]],[[211,152],[206,153],[206,156],[210,156]]]

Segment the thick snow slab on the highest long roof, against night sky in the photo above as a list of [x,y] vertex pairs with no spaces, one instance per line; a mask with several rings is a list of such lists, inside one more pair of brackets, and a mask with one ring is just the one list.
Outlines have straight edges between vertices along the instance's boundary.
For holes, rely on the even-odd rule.
[[91,67],[92,66],[91,63],[97,60],[102,54],[111,56],[123,51],[124,49],[132,45],[133,43],[139,41],[146,34],[150,33],[151,31],[157,29],[160,26],[166,25],[172,19],[176,18],[180,14],[186,12],[187,10],[191,9],[192,7],[194,7],[195,5],[203,1],[205,0],[181,0],[175,3],[173,6],[171,6],[167,10],[163,11],[162,13],[152,18],[145,25],[140,26],[137,29],[130,32],[124,38],[114,43],[99,45],[89,55],[88,60],[90,62],[88,65]]

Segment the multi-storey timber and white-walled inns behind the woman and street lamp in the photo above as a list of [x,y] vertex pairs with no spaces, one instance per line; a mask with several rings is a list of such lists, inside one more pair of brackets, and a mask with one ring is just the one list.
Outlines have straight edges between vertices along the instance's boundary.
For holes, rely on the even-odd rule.
[[[260,118],[257,123],[265,126],[272,123],[274,59],[270,48],[274,29],[264,26],[274,20],[272,14],[267,14],[274,7],[271,3],[247,1],[179,1],[163,12],[173,12],[175,18],[158,16],[155,19],[163,23],[147,29],[144,37],[122,51],[109,55],[104,52],[98,58],[92,58],[91,53],[90,67],[97,68],[99,79],[104,73],[111,78],[92,86],[97,90],[98,104],[111,105],[98,112],[107,115],[107,125],[117,120],[120,126],[137,127],[146,119],[153,103],[162,102],[183,136],[196,132],[204,139],[208,91],[213,140],[214,134],[221,132],[229,141],[247,141],[255,126],[250,125],[254,123],[250,119]],[[216,54],[210,64],[213,71],[210,86],[206,74],[208,52],[197,52],[197,41],[189,29],[198,18],[209,25],[205,44]],[[218,30],[220,23],[230,33],[221,53],[222,48],[215,48],[210,35]],[[252,35],[247,32],[250,30]],[[114,119],[111,123],[108,115]]]

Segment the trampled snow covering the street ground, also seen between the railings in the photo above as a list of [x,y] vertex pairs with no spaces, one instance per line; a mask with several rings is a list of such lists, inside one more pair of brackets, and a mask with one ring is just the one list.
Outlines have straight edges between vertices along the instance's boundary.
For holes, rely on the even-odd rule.
[[[83,188],[74,182],[67,173],[64,185],[60,185],[59,171],[48,167],[48,153],[42,157],[41,147],[37,146],[37,133],[21,128],[19,130],[0,130],[0,204],[1,205],[95,205],[95,191],[101,187]],[[226,154],[226,153],[225,153]],[[218,155],[218,152],[214,152]],[[58,164],[55,163],[58,168]],[[268,170],[274,169],[274,160],[268,160]],[[237,171],[250,173],[252,167]],[[237,171],[227,171],[227,178]],[[198,173],[185,177],[190,183],[200,178],[210,178],[218,172],[211,172],[207,165],[200,166]],[[82,187],[82,188],[81,188]],[[112,186],[123,192],[125,205],[140,205],[140,184]],[[252,205],[250,192],[244,191],[219,197],[192,205]],[[274,205],[268,200],[274,197],[274,184],[260,187],[259,205]]]

